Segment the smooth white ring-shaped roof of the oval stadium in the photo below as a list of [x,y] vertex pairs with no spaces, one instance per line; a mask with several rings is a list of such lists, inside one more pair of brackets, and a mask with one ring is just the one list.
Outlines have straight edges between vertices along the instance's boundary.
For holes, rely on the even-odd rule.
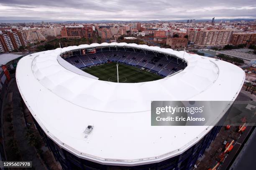
[[[61,52],[97,46],[126,46],[183,57],[183,51],[126,43],[64,47],[23,57],[16,81],[28,109],[45,133],[80,158],[107,165],[142,165],[174,157],[197,143],[212,127],[151,126],[151,100],[236,99],[245,73],[236,65],[186,53],[188,66],[171,77],[115,83],[66,69]],[[58,59],[58,60],[57,60]],[[72,66],[70,66],[72,67]],[[223,115],[228,103],[214,108]],[[87,125],[94,129],[87,138]]]

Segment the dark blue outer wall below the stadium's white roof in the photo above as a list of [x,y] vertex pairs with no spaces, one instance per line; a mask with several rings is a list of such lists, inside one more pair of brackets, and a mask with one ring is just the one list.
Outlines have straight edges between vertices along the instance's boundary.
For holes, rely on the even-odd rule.
[[54,154],[55,159],[59,161],[63,170],[190,170],[194,167],[197,159],[203,155],[205,149],[210,146],[210,143],[215,139],[221,128],[221,126],[215,126],[212,128],[204,138],[181,155],[169,158],[159,163],[127,167],[102,165],[78,158],[67,150],[62,149],[53,140],[48,138],[36,120],[34,120],[34,122],[40,135],[43,137],[44,142]]

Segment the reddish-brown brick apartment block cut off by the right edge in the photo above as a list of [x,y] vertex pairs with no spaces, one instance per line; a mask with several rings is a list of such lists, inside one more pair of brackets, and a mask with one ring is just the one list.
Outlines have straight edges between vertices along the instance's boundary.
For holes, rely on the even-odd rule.
[[238,44],[255,44],[256,32],[233,32],[230,43]]

